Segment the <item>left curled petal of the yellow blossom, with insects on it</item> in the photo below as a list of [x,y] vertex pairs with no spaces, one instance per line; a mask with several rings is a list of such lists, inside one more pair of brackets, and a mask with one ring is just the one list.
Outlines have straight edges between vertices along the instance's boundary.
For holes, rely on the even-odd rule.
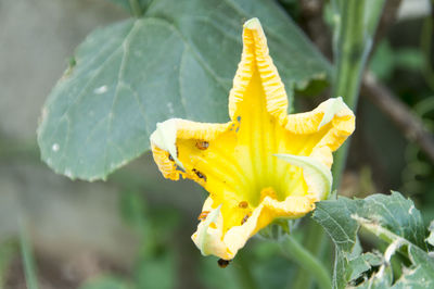
[[190,178],[213,194],[225,196],[226,201],[240,202],[234,192],[242,191],[245,176],[233,153],[235,134],[233,123],[168,120],[151,136],[154,161],[166,178]]

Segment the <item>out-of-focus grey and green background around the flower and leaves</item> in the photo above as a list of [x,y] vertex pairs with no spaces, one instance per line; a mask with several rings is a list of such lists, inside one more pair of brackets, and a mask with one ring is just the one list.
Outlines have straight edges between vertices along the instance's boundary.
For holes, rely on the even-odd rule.
[[[20,241],[47,289],[289,286],[296,267],[276,243],[252,239],[225,269],[201,256],[190,235],[205,192],[192,181],[163,179],[149,153],[95,183],[72,181],[40,161],[35,131],[42,104],[85,37],[129,16],[114,2],[0,0],[0,288],[26,288]],[[280,4],[331,59],[324,1]],[[375,38],[340,193],[399,190],[429,223],[433,9],[427,0],[387,1],[385,13],[392,16],[382,18]],[[327,93],[296,96],[296,111]]]

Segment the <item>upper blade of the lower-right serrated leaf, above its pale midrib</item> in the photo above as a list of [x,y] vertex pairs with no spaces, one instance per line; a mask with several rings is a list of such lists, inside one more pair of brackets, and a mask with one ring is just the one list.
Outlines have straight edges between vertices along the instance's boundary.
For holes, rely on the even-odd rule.
[[365,200],[339,198],[336,201],[322,201],[317,205],[314,219],[329,233],[340,250],[350,252],[359,228],[354,215],[379,223],[422,249],[426,248],[422,216],[413,202],[399,192],[372,194]]

